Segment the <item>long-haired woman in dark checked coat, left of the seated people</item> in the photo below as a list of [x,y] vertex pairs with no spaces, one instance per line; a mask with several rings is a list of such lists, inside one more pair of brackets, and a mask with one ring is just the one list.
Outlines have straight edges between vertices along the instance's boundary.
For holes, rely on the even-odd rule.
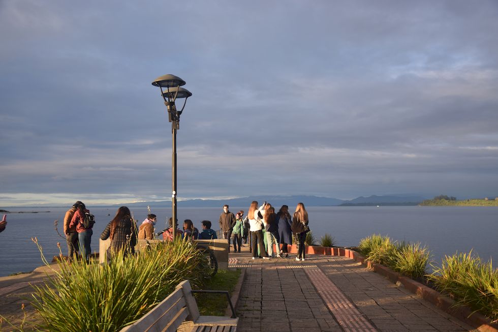
[[102,240],[111,238],[111,255],[124,250],[124,255],[135,253],[137,244],[137,229],[131,218],[130,209],[121,206],[117,209],[114,218],[107,224],[106,229],[100,235]]

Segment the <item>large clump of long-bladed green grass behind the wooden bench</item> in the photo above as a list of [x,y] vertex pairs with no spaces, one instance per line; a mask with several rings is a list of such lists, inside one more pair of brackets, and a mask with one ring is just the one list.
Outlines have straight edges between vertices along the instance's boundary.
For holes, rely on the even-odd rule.
[[[41,248],[40,248],[41,250]],[[43,253],[42,253],[43,256]],[[50,331],[115,331],[139,319],[176,284],[201,286],[207,261],[191,244],[166,242],[109,264],[57,263],[49,285],[35,286],[33,306]]]

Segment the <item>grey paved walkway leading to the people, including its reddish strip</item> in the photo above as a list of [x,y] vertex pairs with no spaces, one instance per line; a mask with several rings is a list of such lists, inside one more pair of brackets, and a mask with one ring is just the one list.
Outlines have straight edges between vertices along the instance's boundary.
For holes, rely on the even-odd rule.
[[469,331],[471,326],[349,258],[307,255],[252,260],[246,267],[237,331]]

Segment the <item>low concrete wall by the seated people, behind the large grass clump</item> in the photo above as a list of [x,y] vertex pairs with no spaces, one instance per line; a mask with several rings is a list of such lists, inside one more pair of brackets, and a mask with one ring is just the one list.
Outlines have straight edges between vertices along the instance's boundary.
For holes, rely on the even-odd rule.
[[[108,238],[107,240],[99,241],[99,261],[104,263],[107,261],[107,249],[111,246],[111,239]],[[139,252],[147,246],[147,243],[154,244],[159,242],[163,242],[163,240],[138,240],[135,251]],[[226,239],[194,240],[193,242],[213,251],[219,269],[228,269],[228,242]]]

